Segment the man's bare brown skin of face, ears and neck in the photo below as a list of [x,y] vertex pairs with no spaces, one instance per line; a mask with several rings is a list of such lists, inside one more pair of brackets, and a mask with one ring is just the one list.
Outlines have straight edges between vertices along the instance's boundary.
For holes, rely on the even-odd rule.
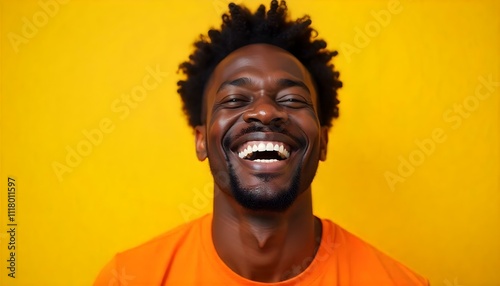
[[[214,176],[212,237],[217,253],[234,272],[253,281],[278,282],[298,275],[320,242],[311,183],[319,161],[326,159],[328,143],[309,72],[278,47],[244,46],[217,65],[204,100],[206,123],[195,128],[196,153],[200,161],[209,159]],[[245,142],[259,140],[283,142],[290,157],[273,164],[238,157]],[[297,196],[285,208],[245,207],[235,199],[231,173],[243,192],[261,202],[290,192],[294,179]]]

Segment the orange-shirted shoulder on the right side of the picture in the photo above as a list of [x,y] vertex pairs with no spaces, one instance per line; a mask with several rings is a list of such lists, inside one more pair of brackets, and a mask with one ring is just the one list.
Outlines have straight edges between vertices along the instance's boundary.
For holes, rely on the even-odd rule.
[[[428,285],[427,279],[330,220],[322,219],[334,241],[340,267],[359,285]],[[327,238],[328,239],[328,238]],[[356,284],[356,283],[355,283]],[[382,285],[381,284],[381,285]],[[378,284],[377,284],[378,285]]]

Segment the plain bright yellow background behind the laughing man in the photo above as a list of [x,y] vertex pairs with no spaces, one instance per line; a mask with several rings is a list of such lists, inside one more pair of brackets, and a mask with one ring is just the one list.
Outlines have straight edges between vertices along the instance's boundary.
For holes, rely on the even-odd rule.
[[[89,285],[117,251],[210,211],[176,70],[228,1],[54,1],[1,1],[0,285]],[[292,17],[311,15],[339,50],[345,84],[315,212],[431,285],[500,285],[500,4],[401,0],[377,23],[391,2],[289,1]],[[129,114],[115,112],[148,67],[168,75]],[[88,144],[84,131],[106,118],[114,129],[59,180],[53,165],[67,165],[67,148]],[[415,141],[429,140],[424,154]],[[404,181],[391,185],[388,172]],[[18,184],[15,279],[8,176]]]

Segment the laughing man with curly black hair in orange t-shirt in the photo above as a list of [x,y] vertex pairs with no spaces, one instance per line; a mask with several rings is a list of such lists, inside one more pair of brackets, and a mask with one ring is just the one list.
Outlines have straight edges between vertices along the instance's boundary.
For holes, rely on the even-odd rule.
[[[400,263],[313,215],[311,183],[338,117],[336,52],[286,3],[229,5],[195,43],[179,93],[214,211],[117,254],[95,285],[427,285]],[[114,273],[114,274],[113,274]]]

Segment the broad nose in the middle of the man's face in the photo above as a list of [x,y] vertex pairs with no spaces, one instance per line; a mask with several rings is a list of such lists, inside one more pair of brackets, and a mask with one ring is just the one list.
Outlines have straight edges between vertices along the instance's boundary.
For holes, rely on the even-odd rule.
[[243,114],[245,122],[260,122],[280,126],[288,121],[288,113],[274,99],[262,96],[255,100]]

